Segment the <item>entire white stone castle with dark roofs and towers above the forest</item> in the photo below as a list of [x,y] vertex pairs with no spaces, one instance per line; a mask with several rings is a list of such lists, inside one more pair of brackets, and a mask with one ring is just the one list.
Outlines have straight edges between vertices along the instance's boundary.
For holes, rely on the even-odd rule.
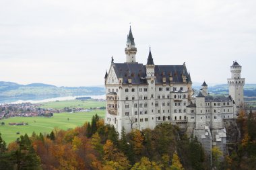
[[158,124],[185,125],[187,132],[202,142],[205,151],[216,145],[226,152],[223,120],[237,117],[243,103],[241,65],[233,62],[228,79],[229,96],[210,95],[207,84],[194,93],[190,73],[183,65],[155,65],[151,49],[147,64],[136,62],[137,48],[131,28],[125,47],[126,62],[111,60],[104,81],[106,87],[105,123],[131,132],[153,129]]

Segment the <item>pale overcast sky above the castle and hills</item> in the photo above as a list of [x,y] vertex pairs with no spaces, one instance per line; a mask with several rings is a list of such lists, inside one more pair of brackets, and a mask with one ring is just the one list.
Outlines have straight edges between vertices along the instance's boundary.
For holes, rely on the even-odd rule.
[[136,60],[183,65],[193,82],[226,83],[236,60],[256,83],[256,1],[1,0],[0,81],[104,85],[125,62],[129,26]]

